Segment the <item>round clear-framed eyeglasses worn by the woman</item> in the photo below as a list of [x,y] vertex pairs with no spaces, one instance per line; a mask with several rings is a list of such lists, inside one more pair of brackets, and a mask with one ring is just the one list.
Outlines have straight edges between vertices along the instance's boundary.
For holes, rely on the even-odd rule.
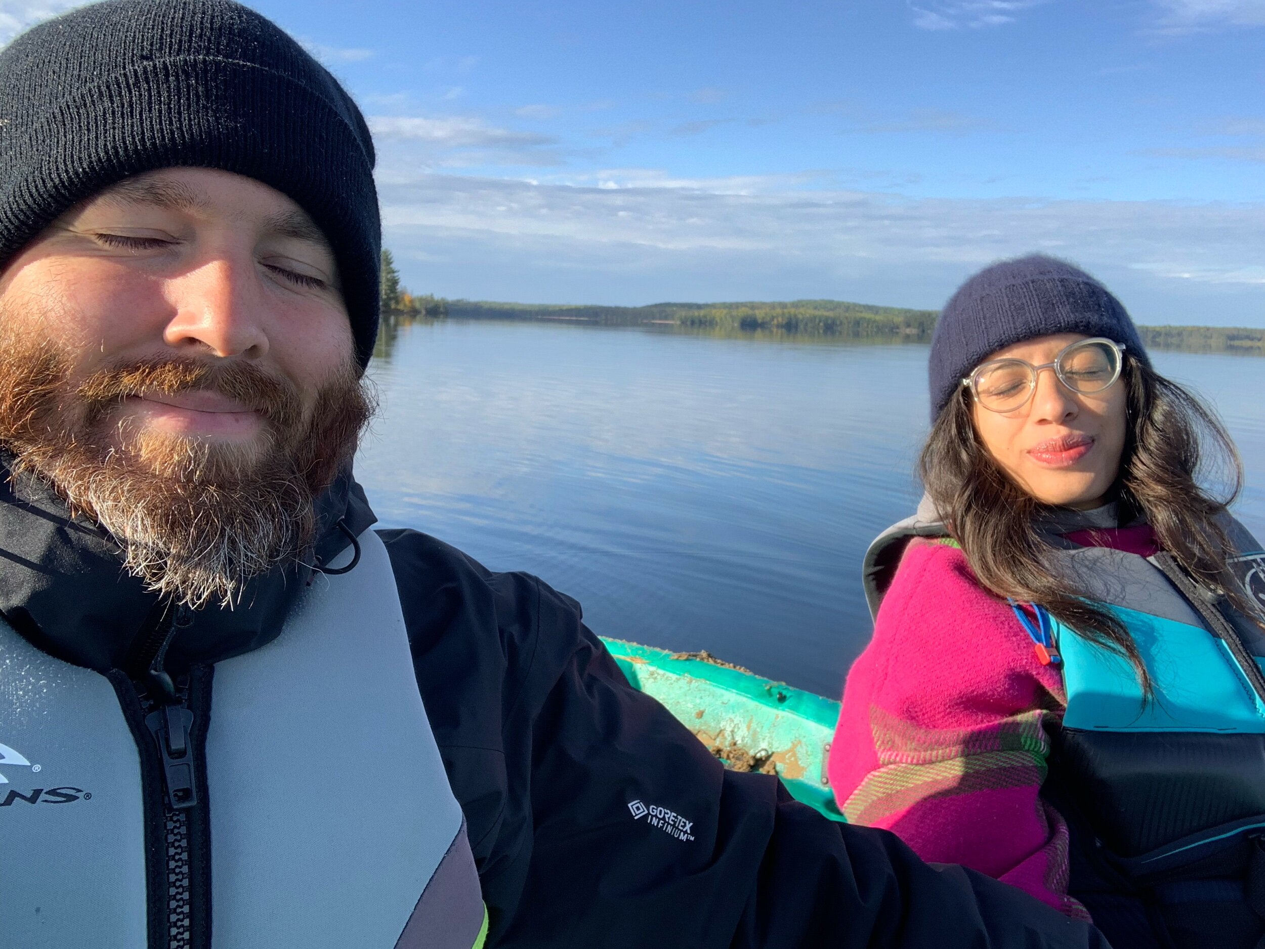
[[989,359],[961,381],[975,401],[994,412],[1022,409],[1036,391],[1041,369],[1054,369],[1059,381],[1079,395],[1094,395],[1116,385],[1125,363],[1125,347],[1095,337],[1064,347],[1054,362],[1034,366],[1026,359]]

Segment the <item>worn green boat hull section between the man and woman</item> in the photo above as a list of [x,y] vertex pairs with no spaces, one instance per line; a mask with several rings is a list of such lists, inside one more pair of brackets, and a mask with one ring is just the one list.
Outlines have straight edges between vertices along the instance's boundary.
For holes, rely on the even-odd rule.
[[706,653],[602,642],[632,687],[659,700],[726,767],[775,773],[797,800],[845,820],[826,773],[839,702]]

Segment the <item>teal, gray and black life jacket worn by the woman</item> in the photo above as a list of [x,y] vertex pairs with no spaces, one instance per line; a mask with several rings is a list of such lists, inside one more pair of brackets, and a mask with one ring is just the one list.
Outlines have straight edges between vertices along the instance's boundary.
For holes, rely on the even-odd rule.
[[[1154,683],[1040,609],[1025,626],[1066,686],[1042,796],[1071,831],[1069,892],[1116,949],[1249,949],[1265,936],[1265,630],[1168,554],[1144,558],[1061,535],[1114,528],[1114,507],[1042,525],[1074,588],[1128,629]],[[1265,615],[1265,550],[1227,520],[1232,567]],[[877,612],[904,545],[946,537],[926,502],[865,561]],[[1036,663],[1037,655],[1034,655]]]

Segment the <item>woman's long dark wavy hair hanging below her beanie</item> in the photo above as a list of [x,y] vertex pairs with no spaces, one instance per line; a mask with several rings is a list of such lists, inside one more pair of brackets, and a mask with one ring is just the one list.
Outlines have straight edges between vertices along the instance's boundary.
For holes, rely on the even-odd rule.
[[[1125,353],[1121,383],[1127,390],[1128,423],[1114,499],[1122,523],[1131,515],[1144,516],[1160,547],[1192,577],[1265,628],[1259,610],[1238,591],[1228,563],[1237,552],[1219,523],[1243,483],[1242,461],[1228,433],[1198,399],[1132,353]],[[1136,669],[1144,695],[1154,693],[1125,625],[1049,567],[1051,548],[1037,524],[1052,509],[1015,483],[989,454],[975,433],[965,386],[936,419],[918,469],[985,588],[1040,604],[1087,639],[1123,655]],[[1227,482],[1219,496],[1200,483],[1208,473]]]

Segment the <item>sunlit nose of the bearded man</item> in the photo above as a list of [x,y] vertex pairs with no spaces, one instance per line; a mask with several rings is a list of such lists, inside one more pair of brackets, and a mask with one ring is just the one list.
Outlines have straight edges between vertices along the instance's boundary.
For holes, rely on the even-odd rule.
[[173,349],[226,358],[259,358],[268,352],[254,261],[215,257],[168,280],[176,314],[163,330]]

